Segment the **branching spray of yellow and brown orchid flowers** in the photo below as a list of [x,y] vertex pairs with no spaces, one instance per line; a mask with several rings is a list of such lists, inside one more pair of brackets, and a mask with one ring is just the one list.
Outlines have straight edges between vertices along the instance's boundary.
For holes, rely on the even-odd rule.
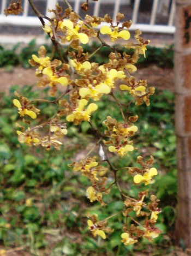
[[[144,41],[140,37],[141,32],[136,30],[136,43],[129,42],[128,29],[131,21],[121,22],[124,18],[121,13],[117,14],[116,22],[113,22],[107,14],[104,17],[85,15],[82,18],[73,11],[67,0],[64,2],[67,4],[67,9],[63,11],[57,4],[55,10],[50,10],[54,14],[54,17],[50,19],[40,14],[33,2],[29,0],[44,31],[52,40],[59,59],[51,59],[46,56],[45,47],[40,46],[38,56],[32,55],[29,60],[29,63],[36,68],[35,74],[39,78],[37,85],[39,87],[49,86],[49,94],[54,97],[54,100],[29,100],[15,92],[17,98],[14,99],[13,104],[17,107],[23,122],[23,124],[17,123],[19,141],[29,146],[43,146],[46,150],[50,150],[51,147],[60,150],[63,137],[67,135],[68,124],[73,123],[75,126],[79,126],[84,121],[88,122],[95,136],[96,144],[87,153],[85,159],[74,162],[70,167],[74,171],[81,172],[81,175],[86,176],[91,182],[86,193],[92,203],[99,201],[100,205],[104,206],[106,204],[104,195],[109,194],[113,186],[117,187],[124,203],[121,212],[102,221],[98,221],[97,215],[88,216],[89,230],[94,237],[100,236],[106,239],[106,234],[114,231],[107,226],[108,219],[116,214],[121,214],[125,220],[121,234],[124,245],[132,245],[138,242],[140,237],[152,240],[160,233],[160,230],[154,227],[158,213],[161,211],[158,208],[158,200],[154,195],[149,196],[148,189],[139,192],[136,199],[129,197],[127,191],[125,192],[121,187],[117,172],[119,170],[128,171],[129,174],[134,175],[132,181],[135,184],[144,183],[147,186],[157,175],[157,169],[152,167],[154,159],[151,156],[149,160],[144,161],[139,156],[137,163],[140,168],[124,166],[117,169],[116,164],[112,163],[112,154],[110,153],[117,154],[120,161],[121,157],[128,152],[136,150],[132,137],[138,131],[138,127],[135,125],[138,116],[129,116],[128,108],[131,104],[150,105],[149,97],[154,93],[154,88],[147,87],[146,80],[138,81],[132,74],[136,72],[135,63],[139,56],[145,56],[149,40]],[[17,4],[14,5],[14,8],[21,7]],[[17,9],[14,9],[13,13],[19,13]],[[88,9],[88,2],[82,4],[82,9]],[[11,6],[7,11],[7,14],[10,13]],[[98,29],[102,22],[106,22],[108,25]],[[133,54],[123,53],[121,55],[118,53],[117,47],[105,42],[106,36],[112,42],[119,38],[122,39],[127,49],[133,49]],[[97,38],[100,41],[100,47],[89,54],[83,51],[83,45],[88,44],[92,38]],[[61,49],[64,44],[68,45],[68,49],[62,54]],[[99,66],[98,63],[91,62],[91,57],[104,46],[109,47],[112,52],[109,54],[109,62]],[[118,85],[120,86],[118,87]],[[63,87],[62,93],[57,93],[58,87]],[[132,100],[122,104],[116,96],[118,90],[130,94]],[[92,124],[91,115],[95,111],[99,111],[97,102],[102,100],[104,94],[108,100],[115,100],[123,121],[118,122],[114,117],[106,116],[103,122],[103,127],[105,127],[103,133]],[[54,104],[57,110],[51,118],[42,122],[40,110],[35,107],[35,102]],[[38,124],[32,126],[30,118],[37,120]],[[47,135],[44,132],[45,127],[48,128]],[[41,131],[43,131],[43,135],[41,135]],[[95,156],[96,153],[93,151],[98,146],[100,153]],[[114,175],[114,182],[111,184],[107,178],[109,172]],[[148,203],[148,198],[150,203]],[[141,222],[138,221],[139,218]]]

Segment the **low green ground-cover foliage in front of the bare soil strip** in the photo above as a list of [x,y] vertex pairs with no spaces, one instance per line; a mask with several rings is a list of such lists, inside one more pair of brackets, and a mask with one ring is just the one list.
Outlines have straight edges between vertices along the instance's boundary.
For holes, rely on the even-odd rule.
[[[31,54],[31,53],[30,53]],[[0,109],[0,182],[1,182],[1,212],[0,241],[5,246],[23,246],[31,255],[134,255],[133,251],[152,253],[159,249],[156,246],[170,245],[169,236],[160,235],[148,247],[148,241],[141,245],[124,246],[121,241],[122,217],[117,215],[109,220],[109,226],[115,228],[110,239],[100,241],[87,234],[87,206],[89,213],[98,213],[100,219],[120,211],[123,204],[114,198],[120,197],[117,189],[112,189],[108,205],[100,210],[99,204],[89,204],[85,197],[87,178],[69,169],[70,159],[75,159],[86,152],[93,140],[84,138],[83,133],[89,130],[84,122],[80,135],[71,130],[71,138],[65,139],[61,151],[45,151],[40,148],[23,146],[17,141],[16,128],[17,110],[12,108],[13,92],[19,88],[10,89],[10,94],[1,94]],[[38,98],[43,92],[33,91],[32,87],[23,87],[22,93],[30,98]],[[46,96],[47,97],[47,96]],[[118,117],[116,103],[105,97],[99,104],[99,111],[92,115],[96,125],[107,115]],[[122,102],[128,99],[121,92]],[[50,98],[51,100],[51,98]],[[161,200],[163,212],[159,215],[158,228],[166,234],[172,230],[176,217],[176,158],[174,132],[174,94],[168,91],[157,91],[151,98],[151,105],[133,106],[132,112],[139,115],[139,134],[136,138],[138,150],[129,153],[121,159],[118,166],[136,165],[135,159],[140,153],[153,156],[159,170],[156,182],[151,185],[151,191]],[[38,106],[44,109],[44,118],[52,114],[54,106],[42,103]],[[76,128],[77,129],[77,128]],[[115,163],[115,158],[114,158]],[[139,186],[129,185],[133,177],[124,175],[125,170],[118,175],[122,177],[122,186],[128,187],[129,195],[136,197]],[[109,177],[113,180],[114,177]],[[144,185],[143,185],[144,186]],[[115,219],[115,221],[114,221]],[[114,224],[115,223],[115,227]],[[43,252],[43,253],[41,253]],[[164,253],[162,250],[160,253]],[[159,253],[159,254],[160,254]],[[156,254],[156,255],[159,255]],[[160,254],[161,255],[161,254]]]

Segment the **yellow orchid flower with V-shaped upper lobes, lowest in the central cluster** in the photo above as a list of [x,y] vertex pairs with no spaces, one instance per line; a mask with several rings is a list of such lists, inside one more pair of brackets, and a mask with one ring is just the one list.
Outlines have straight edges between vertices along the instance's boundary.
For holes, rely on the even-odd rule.
[[93,111],[96,111],[98,109],[98,106],[95,103],[91,103],[88,105],[86,110],[83,110],[87,103],[88,101],[86,99],[80,99],[78,107],[73,111],[72,114],[66,117],[66,120],[68,122],[74,122],[74,124],[79,124],[82,121],[89,122],[91,113]]

